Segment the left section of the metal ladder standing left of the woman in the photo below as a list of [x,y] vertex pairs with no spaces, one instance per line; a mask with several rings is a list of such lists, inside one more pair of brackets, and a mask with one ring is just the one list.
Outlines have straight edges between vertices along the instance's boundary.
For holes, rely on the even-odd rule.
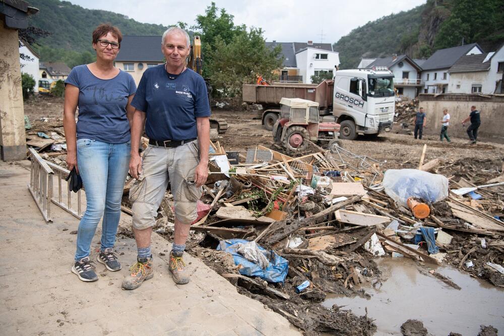
[[52,198],[52,177],[54,172],[47,162],[38,155],[35,149],[30,148],[31,169],[30,184],[28,190],[42,213],[45,222],[52,221],[51,218],[51,198]]

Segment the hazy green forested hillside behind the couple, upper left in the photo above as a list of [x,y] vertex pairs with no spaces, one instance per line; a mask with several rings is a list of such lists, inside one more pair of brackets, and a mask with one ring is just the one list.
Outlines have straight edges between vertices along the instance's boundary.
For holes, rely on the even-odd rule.
[[[41,61],[63,61],[68,66],[92,62],[91,34],[100,23],[119,27],[123,35],[161,35],[166,27],[140,23],[128,17],[100,10],[88,10],[68,1],[29,0],[40,10],[30,16],[30,25],[44,29],[49,36],[39,38],[34,48]],[[166,26],[175,22],[166,22]]]

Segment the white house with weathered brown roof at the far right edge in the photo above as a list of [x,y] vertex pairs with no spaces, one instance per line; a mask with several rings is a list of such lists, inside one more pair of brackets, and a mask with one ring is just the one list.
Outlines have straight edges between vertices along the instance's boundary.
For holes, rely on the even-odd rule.
[[450,93],[502,93],[504,45],[496,52],[464,55],[449,73]]

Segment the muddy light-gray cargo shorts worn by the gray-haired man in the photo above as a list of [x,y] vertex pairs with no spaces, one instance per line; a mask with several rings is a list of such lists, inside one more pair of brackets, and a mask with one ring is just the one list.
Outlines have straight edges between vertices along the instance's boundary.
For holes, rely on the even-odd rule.
[[199,162],[198,140],[174,148],[147,147],[142,162],[142,176],[130,188],[135,229],[144,230],[154,226],[154,218],[168,183],[171,184],[176,218],[184,224],[196,220],[196,202],[203,191],[194,182]]

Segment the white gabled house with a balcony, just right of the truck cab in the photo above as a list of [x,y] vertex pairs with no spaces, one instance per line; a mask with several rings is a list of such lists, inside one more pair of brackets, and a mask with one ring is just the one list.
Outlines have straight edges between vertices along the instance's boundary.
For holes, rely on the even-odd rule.
[[420,93],[423,86],[420,78],[422,69],[408,55],[393,55],[392,57],[376,59],[368,64],[366,68],[371,69],[373,67],[386,67],[394,73],[394,87],[398,95],[415,98]]

